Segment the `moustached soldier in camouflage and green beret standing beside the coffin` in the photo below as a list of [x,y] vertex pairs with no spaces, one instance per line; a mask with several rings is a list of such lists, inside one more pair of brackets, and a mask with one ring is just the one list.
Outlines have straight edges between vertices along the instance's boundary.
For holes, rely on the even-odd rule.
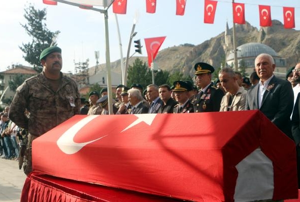
[[[9,111],[9,118],[29,132],[24,162],[26,175],[32,171],[32,141],[79,114],[80,109],[76,82],[61,72],[62,49],[57,46],[48,47],[42,51],[39,59],[43,71],[25,80],[17,88]],[[24,114],[25,110],[29,112],[29,117]]]

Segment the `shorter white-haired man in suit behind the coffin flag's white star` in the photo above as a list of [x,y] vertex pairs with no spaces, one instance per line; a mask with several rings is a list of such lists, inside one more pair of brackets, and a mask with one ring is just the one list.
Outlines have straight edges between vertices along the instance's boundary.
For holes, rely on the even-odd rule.
[[147,114],[149,108],[142,103],[143,97],[139,89],[132,88],[128,91],[128,99],[132,106],[129,114]]

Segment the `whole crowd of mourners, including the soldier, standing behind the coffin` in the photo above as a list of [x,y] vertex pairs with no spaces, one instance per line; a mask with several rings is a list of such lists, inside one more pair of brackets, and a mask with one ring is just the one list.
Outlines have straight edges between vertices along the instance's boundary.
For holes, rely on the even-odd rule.
[[[32,170],[31,144],[35,138],[76,114],[109,114],[107,88],[101,92],[91,91],[87,101],[80,98],[75,81],[62,74],[61,48],[46,48],[40,55],[40,61],[43,72],[18,87],[10,109],[6,108],[1,116],[3,158],[18,159],[20,142],[16,137],[22,130],[28,132],[24,161],[24,172],[27,175]],[[243,78],[241,73],[234,72],[232,68],[223,68],[218,72],[218,81],[213,83],[214,67],[200,62],[194,66],[195,83],[178,80],[172,86],[150,84],[145,89],[140,84],[132,84],[130,87],[120,84],[116,87],[112,113],[260,110],[295,141],[299,157],[300,64],[287,72],[286,80],[274,76],[275,66],[272,56],[261,54],[255,60],[255,71],[250,78]]]

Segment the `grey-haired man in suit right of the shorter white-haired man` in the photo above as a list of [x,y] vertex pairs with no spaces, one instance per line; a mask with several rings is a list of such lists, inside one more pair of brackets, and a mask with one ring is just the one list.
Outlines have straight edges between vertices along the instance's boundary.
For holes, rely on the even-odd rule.
[[149,102],[151,102],[149,107],[149,114],[157,114],[158,109],[163,105],[162,100],[159,97],[158,86],[155,84],[150,84],[147,86],[147,96]]

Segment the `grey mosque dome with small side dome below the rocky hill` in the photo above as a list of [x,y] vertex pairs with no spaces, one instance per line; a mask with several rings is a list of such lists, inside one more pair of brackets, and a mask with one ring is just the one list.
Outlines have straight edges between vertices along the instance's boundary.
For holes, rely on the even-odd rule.
[[[273,57],[278,57],[277,53],[268,45],[262,43],[245,43],[237,48],[237,59],[239,58],[256,58],[260,54],[269,54]],[[229,53],[226,60],[234,59],[234,53]]]

